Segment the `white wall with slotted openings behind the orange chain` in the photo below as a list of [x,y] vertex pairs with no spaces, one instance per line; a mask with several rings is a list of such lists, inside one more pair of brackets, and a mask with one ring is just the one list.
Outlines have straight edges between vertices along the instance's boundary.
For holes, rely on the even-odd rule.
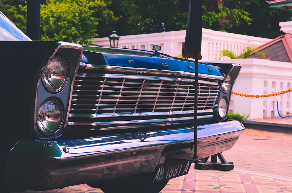
[[[219,62],[204,61],[204,62]],[[248,95],[273,94],[292,88],[292,65],[290,62],[276,62],[266,59],[232,59],[220,60],[223,63],[237,63],[241,65],[241,71],[233,87],[234,92]],[[278,96],[251,98],[232,94],[230,110],[233,113],[248,115],[247,120],[257,118],[279,116],[277,106],[279,103],[281,116],[292,113],[292,92]]]

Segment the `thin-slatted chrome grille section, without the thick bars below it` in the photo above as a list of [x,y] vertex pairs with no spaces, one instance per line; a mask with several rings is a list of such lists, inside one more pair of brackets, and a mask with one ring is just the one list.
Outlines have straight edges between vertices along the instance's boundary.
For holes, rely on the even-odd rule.
[[[194,110],[191,79],[157,78],[116,74],[77,75],[70,113],[183,113]],[[199,81],[198,111],[211,112],[218,93],[218,83]]]

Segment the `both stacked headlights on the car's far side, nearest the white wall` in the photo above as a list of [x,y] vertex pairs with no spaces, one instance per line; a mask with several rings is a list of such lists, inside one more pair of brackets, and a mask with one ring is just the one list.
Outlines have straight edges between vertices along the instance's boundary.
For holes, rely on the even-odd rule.
[[[226,94],[231,87],[231,77],[228,74],[222,84],[222,92]],[[218,114],[220,118],[224,118],[227,113],[227,98],[223,96],[218,103]]]

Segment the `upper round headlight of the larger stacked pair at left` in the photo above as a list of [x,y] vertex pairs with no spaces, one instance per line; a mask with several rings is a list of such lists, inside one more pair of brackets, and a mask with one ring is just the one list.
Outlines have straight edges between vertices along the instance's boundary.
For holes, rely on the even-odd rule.
[[46,66],[42,82],[48,91],[58,92],[65,87],[67,79],[67,63],[62,57],[55,55]]

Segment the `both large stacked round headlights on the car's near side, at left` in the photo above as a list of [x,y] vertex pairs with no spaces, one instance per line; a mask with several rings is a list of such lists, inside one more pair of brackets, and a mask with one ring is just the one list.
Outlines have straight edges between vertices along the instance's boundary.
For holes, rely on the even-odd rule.
[[[58,93],[68,80],[68,66],[62,57],[55,55],[49,60],[41,81],[48,92]],[[37,109],[36,123],[39,130],[46,136],[55,134],[63,120],[60,103],[53,98],[46,99]]]

